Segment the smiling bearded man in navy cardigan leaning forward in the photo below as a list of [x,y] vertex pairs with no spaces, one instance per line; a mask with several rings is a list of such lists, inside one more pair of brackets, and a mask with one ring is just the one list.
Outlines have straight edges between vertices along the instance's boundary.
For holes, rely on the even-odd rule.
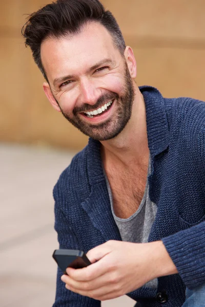
[[133,51],[98,0],[58,0],[23,34],[50,103],[90,137],[54,199],[60,248],[92,265],[58,270],[53,306],[124,294],[136,306],[203,306],[205,104],[139,89]]

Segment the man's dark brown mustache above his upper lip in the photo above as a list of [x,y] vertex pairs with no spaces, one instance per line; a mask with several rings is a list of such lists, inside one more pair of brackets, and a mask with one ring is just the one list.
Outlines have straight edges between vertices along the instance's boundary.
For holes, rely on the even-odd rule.
[[92,111],[93,109],[99,108],[100,106],[106,104],[108,101],[111,101],[113,99],[118,99],[118,98],[119,98],[119,95],[116,93],[103,94],[97,99],[94,105],[85,103],[83,106],[74,107],[73,114],[76,115],[77,113]]

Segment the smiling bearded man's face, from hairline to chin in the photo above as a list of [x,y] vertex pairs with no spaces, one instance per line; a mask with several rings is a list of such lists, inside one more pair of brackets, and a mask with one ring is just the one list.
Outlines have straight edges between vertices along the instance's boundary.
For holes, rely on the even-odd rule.
[[48,38],[41,56],[52,96],[69,122],[100,141],[124,129],[132,112],[133,81],[103,26],[91,23],[79,34]]

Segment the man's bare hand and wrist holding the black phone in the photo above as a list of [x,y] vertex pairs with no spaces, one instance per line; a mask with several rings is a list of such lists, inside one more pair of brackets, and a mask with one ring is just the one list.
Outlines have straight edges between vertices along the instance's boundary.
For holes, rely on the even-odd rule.
[[67,268],[61,280],[66,288],[97,300],[119,297],[140,288],[149,280],[177,273],[161,241],[129,243],[108,241],[87,253],[92,265]]

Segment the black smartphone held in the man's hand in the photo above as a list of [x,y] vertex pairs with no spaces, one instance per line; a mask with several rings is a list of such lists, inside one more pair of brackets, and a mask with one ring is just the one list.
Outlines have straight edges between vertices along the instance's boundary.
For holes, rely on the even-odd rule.
[[91,262],[87,258],[83,251],[59,249],[53,252],[53,258],[57,262],[61,271],[66,273],[68,267],[74,269],[81,269],[91,265]]

